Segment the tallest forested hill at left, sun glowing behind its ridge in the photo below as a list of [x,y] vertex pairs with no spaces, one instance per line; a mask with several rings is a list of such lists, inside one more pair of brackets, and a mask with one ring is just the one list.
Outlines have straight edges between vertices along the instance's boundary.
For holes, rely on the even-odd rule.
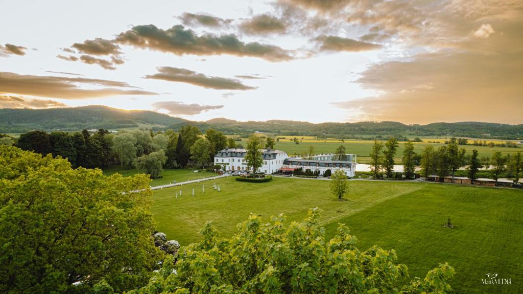
[[0,109],[0,133],[20,133],[33,129],[77,131],[100,128],[162,128],[185,121],[155,111],[128,111],[100,105],[51,109]]

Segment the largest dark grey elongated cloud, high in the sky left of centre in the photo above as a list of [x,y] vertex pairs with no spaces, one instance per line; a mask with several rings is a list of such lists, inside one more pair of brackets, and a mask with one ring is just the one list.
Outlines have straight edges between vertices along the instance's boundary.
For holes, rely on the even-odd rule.
[[198,36],[194,31],[177,25],[163,30],[154,25],[135,26],[120,33],[115,42],[137,48],[169,52],[176,55],[221,55],[249,56],[268,61],[287,61],[293,58],[292,52],[277,46],[258,42],[245,43],[235,35]]

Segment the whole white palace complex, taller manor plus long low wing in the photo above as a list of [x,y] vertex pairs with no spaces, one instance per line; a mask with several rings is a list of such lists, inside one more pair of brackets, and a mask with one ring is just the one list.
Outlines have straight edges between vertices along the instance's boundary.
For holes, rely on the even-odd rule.
[[[259,172],[274,174],[277,172],[292,173],[295,169],[302,168],[304,172],[311,171],[320,176],[331,169],[331,172],[341,170],[348,177],[354,177],[356,168],[356,155],[345,154],[346,160],[335,160],[335,154],[317,154],[308,159],[289,157],[286,152],[274,149],[261,149],[263,164]],[[245,148],[225,148],[214,155],[214,164],[223,166],[224,171],[247,171],[247,161],[244,157]],[[252,171],[252,169],[251,169]]]

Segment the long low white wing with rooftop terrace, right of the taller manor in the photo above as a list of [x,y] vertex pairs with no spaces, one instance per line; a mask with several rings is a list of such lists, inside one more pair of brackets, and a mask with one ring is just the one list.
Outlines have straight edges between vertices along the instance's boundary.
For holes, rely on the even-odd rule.
[[311,159],[288,158],[283,161],[281,171],[292,172],[302,168],[303,172],[310,171],[313,174],[323,176],[330,169],[331,173],[343,171],[348,177],[354,177],[356,170],[356,155],[346,154],[346,160],[336,160],[335,154],[319,154],[311,156]]

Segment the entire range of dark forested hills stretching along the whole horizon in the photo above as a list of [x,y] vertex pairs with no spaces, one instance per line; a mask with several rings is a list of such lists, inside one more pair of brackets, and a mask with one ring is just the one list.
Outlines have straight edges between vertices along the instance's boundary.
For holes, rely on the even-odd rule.
[[255,131],[281,135],[313,135],[320,138],[358,138],[395,136],[456,136],[495,139],[523,139],[523,125],[505,125],[490,122],[437,122],[428,125],[405,125],[395,121],[324,122],[311,123],[292,120],[236,121],[214,118],[208,121],[186,119],[158,114],[148,110],[121,110],[92,105],[53,109],[0,109],[0,133],[20,133],[33,129],[76,131],[82,129],[151,128],[177,130],[192,125],[205,131],[214,128],[226,134]]

